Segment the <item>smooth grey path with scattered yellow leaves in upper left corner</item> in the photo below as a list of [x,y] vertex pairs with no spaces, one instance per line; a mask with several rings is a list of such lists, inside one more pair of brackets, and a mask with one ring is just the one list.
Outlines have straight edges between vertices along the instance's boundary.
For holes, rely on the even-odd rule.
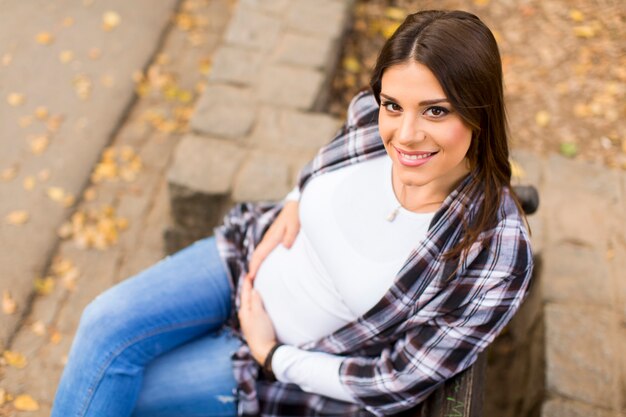
[[[0,291],[15,311],[0,314],[0,348],[27,310],[56,229],[119,129],[133,101],[132,74],[159,48],[176,2],[2,2]],[[11,213],[14,222],[28,221],[7,224]]]

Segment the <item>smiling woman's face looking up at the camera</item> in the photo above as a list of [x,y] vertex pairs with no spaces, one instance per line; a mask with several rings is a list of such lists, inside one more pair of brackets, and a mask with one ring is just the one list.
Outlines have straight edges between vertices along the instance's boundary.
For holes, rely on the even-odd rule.
[[472,130],[424,65],[391,66],[382,77],[380,135],[393,161],[394,184],[447,195],[469,172]]

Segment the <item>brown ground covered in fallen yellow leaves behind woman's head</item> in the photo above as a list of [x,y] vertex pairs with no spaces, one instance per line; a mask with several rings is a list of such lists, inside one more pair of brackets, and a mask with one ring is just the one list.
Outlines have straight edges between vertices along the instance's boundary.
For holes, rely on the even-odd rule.
[[494,32],[511,145],[626,169],[626,3],[621,0],[358,0],[331,106],[368,85],[386,37],[407,13],[462,9]]

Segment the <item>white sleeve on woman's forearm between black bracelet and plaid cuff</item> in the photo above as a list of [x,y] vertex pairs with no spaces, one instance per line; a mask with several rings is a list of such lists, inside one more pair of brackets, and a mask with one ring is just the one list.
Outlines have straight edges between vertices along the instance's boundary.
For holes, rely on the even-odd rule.
[[354,403],[356,401],[339,380],[339,367],[343,359],[343,356],[308,352],[284,345],[274,352],[272,370],[280,382],[296,384],[303,391]]

